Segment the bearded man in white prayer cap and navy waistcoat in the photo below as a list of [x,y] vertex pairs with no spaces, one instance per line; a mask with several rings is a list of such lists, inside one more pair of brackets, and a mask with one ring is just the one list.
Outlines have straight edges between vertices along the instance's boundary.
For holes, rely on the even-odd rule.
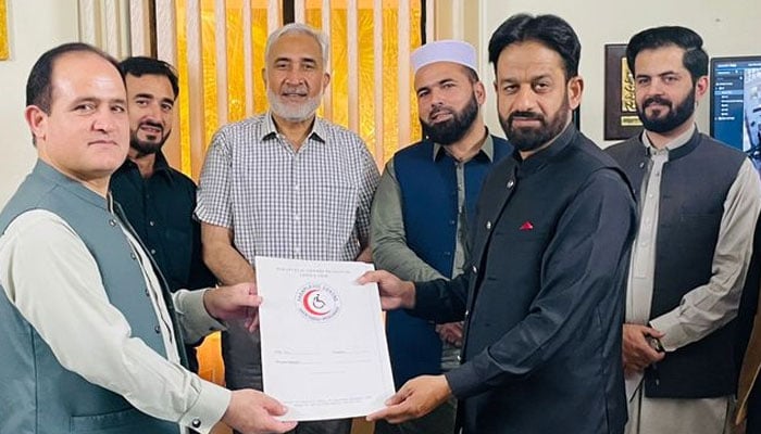
[[[435,41],[415,50],[411,61],[425,138],[386,165],[371,214],[373,259],[406,280],[450,279],[469,259],[467,221],[481,184],[492,163],[512,149],[484,125],[485,90],[473,46]],[[462,322],[434,324],[390,311],[387,335],[397,387],[459,365]],[[451,434],[453,429],[452,398],[416,420],[378,421],[375,433]]]

